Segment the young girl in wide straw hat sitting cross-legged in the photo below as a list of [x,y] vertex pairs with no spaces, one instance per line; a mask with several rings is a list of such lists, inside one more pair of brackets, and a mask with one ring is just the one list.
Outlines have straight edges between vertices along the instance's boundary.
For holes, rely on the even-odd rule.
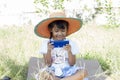
[[[79,19],[66,18],[63,12],[56,12],[35,28],[38,36],[49,38],[42,43],[40,53],[43,54],[45,64],[54,74],[55,80],[83,80],[87,76],[86,70],[75,65],[75,55],[79,53],[77,45],[66,39],[66,36],[79,30],[81,24]],[[68,41],[69,44],[55,47],[54,41]]]

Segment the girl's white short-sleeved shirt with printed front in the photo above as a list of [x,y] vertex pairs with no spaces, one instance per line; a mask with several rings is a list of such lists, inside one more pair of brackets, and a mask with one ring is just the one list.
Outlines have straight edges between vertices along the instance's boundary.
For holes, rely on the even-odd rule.
[[[40,54],[47,54],[48,42],[49,42],[49,39],[44,40],[42,42],[41,48],[40,48]],[[69,40],[69,44],[71,45],[71,52],[73,55],[80,53],[77,45],[72,40]],[[62,47],[54,48],[51,51],[51,56],[52,56],[53,64],[69,65],[68,64],[68,52],[65,49],[63,49]]]

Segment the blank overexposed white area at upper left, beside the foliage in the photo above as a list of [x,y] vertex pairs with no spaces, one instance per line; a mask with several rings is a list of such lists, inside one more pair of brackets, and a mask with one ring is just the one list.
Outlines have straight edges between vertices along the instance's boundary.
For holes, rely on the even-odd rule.
[[23,13],[35,11],[33,1],[0,0],[0,27],[3,25],[22,25],[28,22]]

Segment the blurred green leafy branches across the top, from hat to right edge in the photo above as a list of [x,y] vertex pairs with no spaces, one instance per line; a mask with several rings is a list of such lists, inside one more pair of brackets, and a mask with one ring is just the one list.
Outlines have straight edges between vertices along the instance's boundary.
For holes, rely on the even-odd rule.
[[[63,5],[66,2],[66,5]],[[72,17],[78,17],[81,18],[84,22],[84,24],[92,21],[97,14],[106,14],[107,23],[105,24],[105,27],[107,28],[115,28],[119,27],[120,21],[119,21],[119,15],[120,12],[116,13],[115,8],[112,6],[112,2],[110,0],[95,0],[93,3],[91,2],[91,7],[89,7],[88,4],[83,4],[82,0],[76,0],[76,6],[73,0],[35,0],[34,3],[36,5],[42,5],[42,7],[37,8],[37,12],[42,12],[43,14],[48,14],[49,11],[60,9],[60,10],[66,10],[67,6],[74,5],[73,8],[70,8],[69,10],[66,10],[69,16]],[[76,7],[75,7],[76,6]],[[119,9],[118,9],[119,10]]]

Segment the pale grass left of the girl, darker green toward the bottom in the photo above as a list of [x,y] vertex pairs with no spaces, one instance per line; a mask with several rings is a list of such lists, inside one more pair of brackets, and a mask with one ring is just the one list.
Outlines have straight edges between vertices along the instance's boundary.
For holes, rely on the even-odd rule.
[[0,28],[0,79],[7,75],[12,80],[26,80],[29,58],[35,55],[40,41],[36,42],[33,28],[27,28]]

